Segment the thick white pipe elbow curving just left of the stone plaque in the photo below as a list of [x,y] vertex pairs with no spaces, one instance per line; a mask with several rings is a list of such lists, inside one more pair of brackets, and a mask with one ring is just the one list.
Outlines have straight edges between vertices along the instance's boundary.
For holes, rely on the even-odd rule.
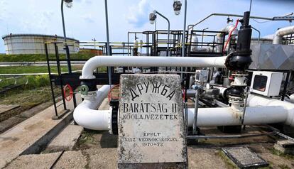
[[111,119],[111,110],[97,110],[107,97],[110,85],[104,85],[96,91],[96,95],[85,97],[85,100],[79,104],[74,111],[74,119],[77,124],[86,129],[109,130]]

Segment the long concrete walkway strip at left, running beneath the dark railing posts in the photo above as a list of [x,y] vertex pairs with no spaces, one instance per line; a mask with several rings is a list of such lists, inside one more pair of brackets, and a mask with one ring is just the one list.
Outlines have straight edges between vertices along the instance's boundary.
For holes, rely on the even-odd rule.
[[[62,107],[58,107],[61,111]],[[26,121],[0,135],[0,168],[23,154],[40,152],[64,126],[72,120],[72,113],[60,120],[52,120],[54,107],[48,107]]]

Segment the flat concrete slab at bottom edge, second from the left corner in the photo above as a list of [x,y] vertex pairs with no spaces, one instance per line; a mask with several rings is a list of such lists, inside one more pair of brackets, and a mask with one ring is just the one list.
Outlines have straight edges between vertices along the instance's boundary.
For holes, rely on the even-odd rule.
[[65,151],[54,168],[86,168],[87,158],[82,151]]

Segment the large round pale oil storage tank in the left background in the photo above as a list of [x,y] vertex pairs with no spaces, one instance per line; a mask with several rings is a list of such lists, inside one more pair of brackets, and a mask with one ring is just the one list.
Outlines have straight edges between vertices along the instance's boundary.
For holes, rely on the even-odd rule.
[[[63,42],[62,36],[51,36],[43,34],[9,34],[3,36],[6,55],[13,54],[45,54],[44,43]],[[77,53],[79,48],[79,40],[67,38],[70,53]],[[74,45],[75,44],[75,45]],[[48,53],[55,53],[53,44],[48,45]],[[64,47],[58,45],[58,53],[65,53]]]

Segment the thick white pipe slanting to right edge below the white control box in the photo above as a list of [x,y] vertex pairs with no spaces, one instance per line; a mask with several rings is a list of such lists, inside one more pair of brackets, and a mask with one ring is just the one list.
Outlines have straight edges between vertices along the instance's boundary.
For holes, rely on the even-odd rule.
[[[268,97],[261,97],[254,94],[249,94],[249,97],[247,99],[247,106],[249,107],[283,107],[280,111],[276,111],[276,114],[279,116],[282,116],[282,114],[287,112],[287,118],[284,122],[284,124],[294,126],[294,104],[289,102],[283,102],[278,99],[271,99]],[[247,109],[246,109],[247,110]],[[268,110],[271,111],[271,110]],[[268,116],[264,116],[264,119],[268,119]]]

